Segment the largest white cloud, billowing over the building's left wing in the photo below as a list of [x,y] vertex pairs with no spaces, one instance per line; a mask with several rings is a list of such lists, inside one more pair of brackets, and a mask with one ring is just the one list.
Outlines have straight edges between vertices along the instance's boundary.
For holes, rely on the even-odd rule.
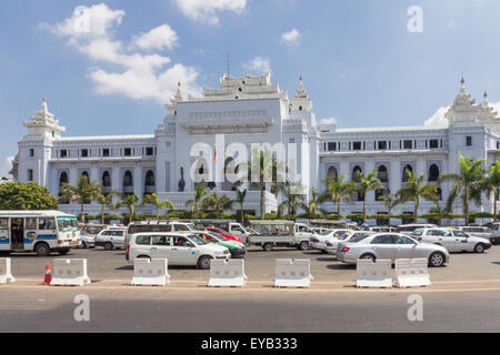
[[[178,41],[177,33],[162,24],[147,33],[132,37],[129,44],[114,39],[114,31],[120,26],[124,11],[111,10],[100,3],[88,8],[89,31],[74,31],[79,16],[73,13],[69,19],[54,26],[42,23],[40,28],[68,39],[70,45],[77,48],[90,60],[116,65],[116,69],[89,68],[89,78],[96,84],[97,92],[102,94],[120,94],[131,99],[154,99],[166,102],[174,95],[177,83],[182,84],[182,92],[199,95],[197,85],[199,70],[182,63],[171,63],[169,57],[157,53],[143,54],[132,49],[162,50],[172,49]],[[78,28],[78,27],[77,27]],[[167,67],[172,64],[171,67]]]

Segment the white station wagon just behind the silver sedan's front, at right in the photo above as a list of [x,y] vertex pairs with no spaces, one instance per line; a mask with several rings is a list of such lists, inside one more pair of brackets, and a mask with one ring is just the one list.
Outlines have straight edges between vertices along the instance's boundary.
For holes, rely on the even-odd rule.
[[412,233],[412,237],[422,243],[444,246],[449,252],[483,253],[491,247],[490,241],[470,236],[467,233],[443,227],[420,229]]

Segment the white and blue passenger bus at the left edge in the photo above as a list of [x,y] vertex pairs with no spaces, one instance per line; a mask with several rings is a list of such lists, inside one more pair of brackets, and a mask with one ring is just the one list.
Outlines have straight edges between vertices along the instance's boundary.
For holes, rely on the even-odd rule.
[[0,211],[0,254],[67,254],[80,244],[74,215],[59,211]]

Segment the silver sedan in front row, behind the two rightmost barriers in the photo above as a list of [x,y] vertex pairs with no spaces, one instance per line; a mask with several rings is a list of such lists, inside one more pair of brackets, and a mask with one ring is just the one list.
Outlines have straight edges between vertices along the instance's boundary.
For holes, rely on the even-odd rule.
[[377,233],[367,235],[357,243],[340,243],[337,258],[347,264],[356,264],[358,258],[386,258],[392,263],[397,258],[426,257],[429,266],[439,267],[450,260],[447,248],[440,245],[419,243],[399,233]]

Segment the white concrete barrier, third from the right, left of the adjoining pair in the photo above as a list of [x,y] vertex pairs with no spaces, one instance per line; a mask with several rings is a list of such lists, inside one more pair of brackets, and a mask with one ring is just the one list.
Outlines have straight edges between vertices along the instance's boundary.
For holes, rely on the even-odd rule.
[[311,285],[309,258],[277,258],[274,287],[309,287]]

